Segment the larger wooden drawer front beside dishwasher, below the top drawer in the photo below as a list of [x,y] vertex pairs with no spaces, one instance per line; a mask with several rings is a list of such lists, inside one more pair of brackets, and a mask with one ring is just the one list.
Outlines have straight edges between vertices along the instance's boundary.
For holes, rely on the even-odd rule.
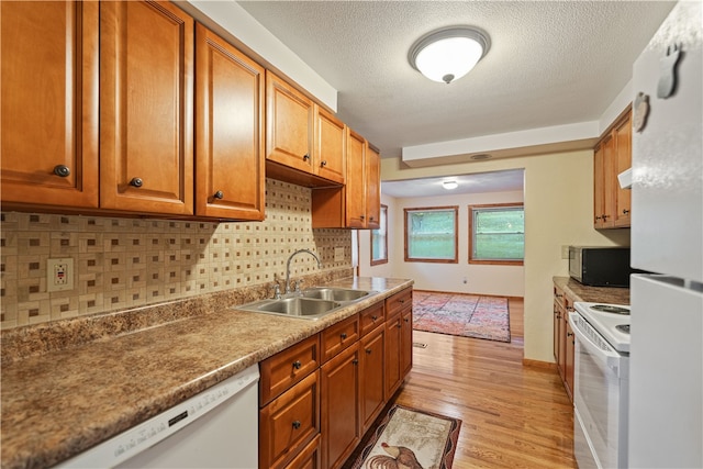
[[320,433],[320,371],[259,412],[259,468],[282,468]]

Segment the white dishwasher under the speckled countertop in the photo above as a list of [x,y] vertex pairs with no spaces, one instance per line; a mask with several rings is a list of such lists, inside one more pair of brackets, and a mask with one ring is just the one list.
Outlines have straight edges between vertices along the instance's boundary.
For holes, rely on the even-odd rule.
[[55,468],[258,467],[258,365]]

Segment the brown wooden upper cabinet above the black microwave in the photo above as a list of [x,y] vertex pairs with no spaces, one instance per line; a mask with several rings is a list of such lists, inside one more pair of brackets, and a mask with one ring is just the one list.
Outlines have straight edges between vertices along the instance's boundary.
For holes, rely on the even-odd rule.
[[617,175],[632,166],[631,108],[601,137],[593,155],[593,227],[631,225],[631,191],[621,189]]

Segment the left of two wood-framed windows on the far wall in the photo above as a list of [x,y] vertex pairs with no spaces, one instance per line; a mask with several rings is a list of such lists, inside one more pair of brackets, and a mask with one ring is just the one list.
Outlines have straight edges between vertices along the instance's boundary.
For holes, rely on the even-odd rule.
[[458,206],[404,209],[405,260],[457,263]]

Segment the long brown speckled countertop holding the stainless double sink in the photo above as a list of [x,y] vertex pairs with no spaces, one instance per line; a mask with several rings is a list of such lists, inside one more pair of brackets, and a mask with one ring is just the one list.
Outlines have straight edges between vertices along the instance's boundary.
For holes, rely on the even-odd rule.
[[[75,335],[91,339],[63,348],[41,344],[41,353],[22,350],[23,342],[37,342],[33,331],[3,332],[2,468],[44,468],[68,459],[412,286],[412,281],[349,277],[325,284],[378,293],[320,321],[230,308],[258,299],[250,297],[220,304],[211,297],[201,305],[205,313],[191,311],[182,316],[172,313],[185,308],[181,304],[161,305],[154,314],[167,311],[168,320],[146,322],[143,328],[127,332],[122,323],[130,314],[134,316],[134,311],[103,315],[98,322],[83,320],[64,327],[64,334],[75,327]],[[199,308],[198,299],[185,303],[189,309]],[[137,313],[140,317],[152,314],[149,309]],[[98,323],[104,330],[122,332],[93,334],[91,327]],[[59,340],[59,336],[44,327],[40,342]]]

